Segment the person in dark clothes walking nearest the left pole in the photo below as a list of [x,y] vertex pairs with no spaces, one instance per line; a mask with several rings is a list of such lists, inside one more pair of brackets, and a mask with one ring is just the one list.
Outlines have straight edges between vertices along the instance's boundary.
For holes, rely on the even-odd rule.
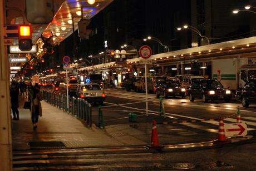
[[11,106],[12,106],[12,114],[13,120],[19,120],[19,89],[16,82],[12,82],[10,88],[10,95],[11,95]]

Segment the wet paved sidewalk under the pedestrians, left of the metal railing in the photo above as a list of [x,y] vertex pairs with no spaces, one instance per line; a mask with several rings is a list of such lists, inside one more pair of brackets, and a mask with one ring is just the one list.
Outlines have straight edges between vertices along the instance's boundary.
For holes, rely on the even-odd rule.
[[[24,99],[20,98],[20,101],[20,107],[23,107]],[[87,128],[72,115],[43,101],[42,110],[38,128],[33,130],[29,109],[19,108],[19,120],[12,120],[13,150],[30,149],[29,142],[62,142],[66,148],[125,145],[104,130]]]

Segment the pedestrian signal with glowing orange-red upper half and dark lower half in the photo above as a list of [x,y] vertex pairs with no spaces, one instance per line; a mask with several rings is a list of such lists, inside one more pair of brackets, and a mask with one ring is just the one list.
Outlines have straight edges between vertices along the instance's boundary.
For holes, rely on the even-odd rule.
[[30,25],[19,25],[19,49],[30,51],[32,49],[32,31]]

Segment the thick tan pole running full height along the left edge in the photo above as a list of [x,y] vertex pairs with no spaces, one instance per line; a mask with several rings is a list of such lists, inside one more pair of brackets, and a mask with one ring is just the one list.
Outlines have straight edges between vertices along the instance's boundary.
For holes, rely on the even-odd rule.
[[4,46],[4,1],[0,0],[0,170],[12,170],[11,104],[9,62]]

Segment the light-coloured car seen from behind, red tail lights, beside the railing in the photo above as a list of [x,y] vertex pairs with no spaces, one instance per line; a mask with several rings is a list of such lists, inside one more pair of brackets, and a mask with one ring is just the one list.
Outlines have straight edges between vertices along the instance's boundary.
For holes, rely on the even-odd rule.
[[103,105],[106,94],[97,83],[78,84],[77,97],[87,100],[89,103],[100,103]]

